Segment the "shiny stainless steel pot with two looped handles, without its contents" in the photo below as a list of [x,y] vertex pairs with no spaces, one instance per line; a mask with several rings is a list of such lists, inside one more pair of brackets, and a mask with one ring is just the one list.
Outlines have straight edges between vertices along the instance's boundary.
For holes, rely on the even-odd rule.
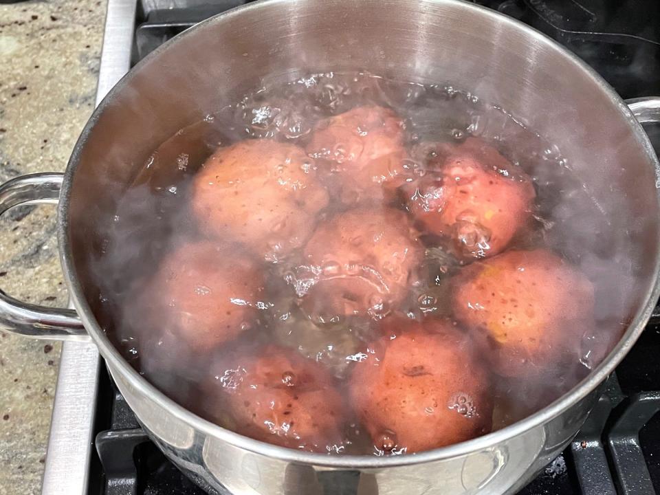
[[[99,225],[136,167],[166,137],[263,76],[369,69],[476,91],[561,143],[594,197],[617,197],[612,239],[630,243],[633,308],[616,347],[586,380],[524,421],[410,456],[325,456],[261,443],[205,421],[146,382],[95,318],[90,264]],[[631,111],[632,110],[632,111]],[[3,327],[32,337],[96,342],[120,391],[155,443],[188,476],[240,494],[505,494],[569,443],[599,384],[643,331],[659,296],[659,163],[635,120],[659,120],[660,100],[630,109],[571,53],[527,26],[454,0],[266,0],[197,25],[137,65],[109,93],[76,144],[65,175],[19,177],[0,212],[58,202],[61,260],[76,311],[0,297]],[[565,133],[564,133],[565,135]],[[590,181],[590,177],[599,177]],[[592,184],[593,182],[593,184]],[[621,222],[617,219],[624,219]],[[352,491],[351,491],[352,490]]]

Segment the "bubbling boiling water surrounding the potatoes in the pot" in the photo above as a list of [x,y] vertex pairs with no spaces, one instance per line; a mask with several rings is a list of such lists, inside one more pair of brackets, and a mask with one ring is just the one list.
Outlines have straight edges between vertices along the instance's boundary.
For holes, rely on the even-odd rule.
[[[229,411],[210,414],[206,392],[200,386],[222,350],[200,355],[180,343],[156,338],[160,333],[141,314],[135,294],[151,291],[148,296],[157,297],[157,287],[148,281],[160,261],[182,243],[205,237],[189,206],[197,170],[217,148],[241,140],[270,138],[304,146],[319,120],[365,104],[393,109],[404,119],[408,149],[423,149],[426,142],[461,142],[477,136],[525,170],[536,189],[535,224],[531,234],[514,239],[510,248],[549,248],[578,266],[585,260],[599,260],[598,270],[592,270],[595,274],[606,273],[607,263],[619,263],[620,253],[608,252],[608,243],[599,239],[607,230],[606,216],[573,176],[570,162],[558,147],[526,129],[504,109],[481,101],[478,95],[370,74],[313,74],[292,82],[266,83],[241,101],[210,111],[153,151],[118,204],[98,264],[96,274],[109,335],[140,373],[190,410],[227,428],[234,426]],[[395,207],[405,210],[401,204]],[[322,216],[331,217],[343,208],[346,206],[331,202]],[[586,221],[571,223],[575,217]],[[416,320],[453,318],[448,303],[450,286],[445,282],[463,270],[463,263],[432,237],[422,239],[426,256],[419,272],[423,276],[395,310]],[[239,340],[254,352],[270,342],[289,347],[327,368],[344,386],[351,365],[367,358],[364,344],[378,335],[379,318],[347,319],[328,326],[305,314],[292,290],[297,279],[289,260],[294,257],[295,253],[261,263],[266,282],[258,303],[259,324],[241,333]],[[599,292],[603,280],[597,280],[597,275],[591,278],[596,288],[599,332],[583,336],[582,358],[572,366],[562,363],[562,369],[559,365],[549,369],[540,379],[495,380],[494,429],[529,415],[568,391],[602,359],[619,335],[624,322],[599,309],[610,306],[610,301]],[[451,407],[467,415],[473,410],[465,397],[462,401],[457,398]],[[347,417],[347,441],[329,451],[384,454],[358,420],[350,419],[351,412]]]

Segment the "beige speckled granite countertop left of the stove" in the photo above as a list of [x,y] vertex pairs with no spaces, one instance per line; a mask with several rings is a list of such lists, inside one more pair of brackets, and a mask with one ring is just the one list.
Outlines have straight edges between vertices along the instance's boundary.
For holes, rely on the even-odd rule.
[[[106,1],[0,4],[0,180],[63,171],[94,108]],[[55,209],[0,219],[0,288],[64,306]],[[60,345],[0,331],[0,495],[40,494]]]

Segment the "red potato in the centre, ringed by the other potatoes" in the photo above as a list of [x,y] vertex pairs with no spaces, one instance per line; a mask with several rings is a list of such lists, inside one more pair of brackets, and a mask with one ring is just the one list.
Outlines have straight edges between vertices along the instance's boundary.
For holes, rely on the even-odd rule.
[[406,296],[423,248],[408,217],[393,208],[359,208],[321,223],[305,246],[314,285],[303,307],[313,320],[381,318]]

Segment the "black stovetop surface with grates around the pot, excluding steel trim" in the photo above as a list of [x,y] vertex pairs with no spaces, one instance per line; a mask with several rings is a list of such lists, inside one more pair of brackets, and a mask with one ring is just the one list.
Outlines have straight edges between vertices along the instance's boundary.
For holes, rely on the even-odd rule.
[[[248,0],[249,1],[249,0]],[[139,13],[134,61],[245,0]],[[623,98],[660,94],[660,1],[474,0],[545,32]],[[660,126],[649,127],[660,152]],[[660,309],[571,445],[519,495],[660,493]],[[149,441],[103,368],[89,495],[206,495]]]

